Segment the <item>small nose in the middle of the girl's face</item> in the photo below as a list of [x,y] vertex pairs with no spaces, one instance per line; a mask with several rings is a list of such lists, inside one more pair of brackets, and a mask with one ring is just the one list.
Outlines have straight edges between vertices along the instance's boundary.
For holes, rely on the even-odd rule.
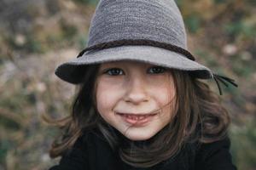
[[127,82],[125,102],[130,102],[138,105],[142,102],[148,101],[148,94],[146,92],[146,82],[142,77],[132,78]]

